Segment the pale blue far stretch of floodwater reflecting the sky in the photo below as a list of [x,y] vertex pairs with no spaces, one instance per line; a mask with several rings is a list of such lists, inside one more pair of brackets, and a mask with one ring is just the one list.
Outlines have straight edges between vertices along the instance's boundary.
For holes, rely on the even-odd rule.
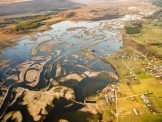
[[[108,30],[109,22],[71,22],[52,25],[50,31],[24,37],[18,43],[2,51],[2,59],[19,64],[36,56],[64,55],[81,48],[95,48],[103,56],[120,49],[122,42],[118,32]],[[10,64],[9,64],[10,65]]]

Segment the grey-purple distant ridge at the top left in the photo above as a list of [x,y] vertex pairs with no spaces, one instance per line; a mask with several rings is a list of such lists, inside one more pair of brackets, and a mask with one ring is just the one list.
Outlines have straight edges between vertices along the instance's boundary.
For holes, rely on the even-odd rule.
[[[11,1],[12,3],[9,3]],[[41,11],[52,11],[63,8],[73,8],[82,5],[69,0],[26,0],[24,2],[20,1],[24,0],[0,1],[0,16],[41,12]],[[5,2],[6,3],[8,2],[8,4],[2,4]]]

